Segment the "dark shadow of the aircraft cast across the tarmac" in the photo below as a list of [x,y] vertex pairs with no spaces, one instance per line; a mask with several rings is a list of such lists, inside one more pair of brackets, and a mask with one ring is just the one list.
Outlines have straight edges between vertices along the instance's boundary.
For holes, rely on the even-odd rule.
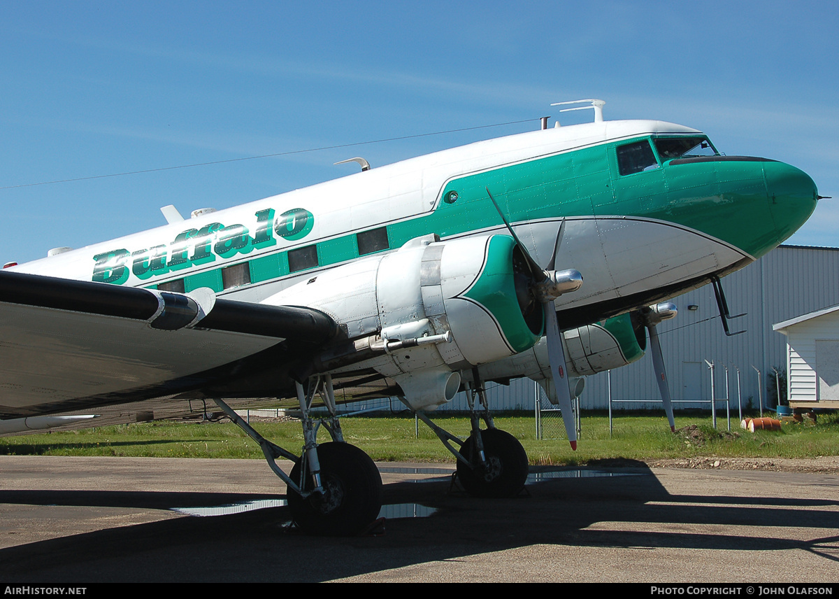
[[[386,504],[408,505],[404,511],[410,513],[414,504],[435,512],[425,518],[390,518],[382,536],[305,536],[287,528],[286,507],[271,507],[104,528],[0,549],[0,577],[8,582],[333,581],[413,565],[432,567],[473,554],[536,544],[753,552],[800,549],[819,560],[839,561],[839,536],[800,540],[779,532],[785,527],[839,528],[836,501],[671,495],[644,469],[606,473],[611,476],[534,470],[542,481],[529,484],[522,497],[507,500],[451,492],[447,476],[431,481],[418,476],[425,481],[387,484]],[[570,474],[550,477],[557,472]],[[245,493],[0,491],[3,503],[161,510],[268,497],[277,498]],[[778,527],[769,529],[774,531],[769,537],[766,528],[759,537],[748,533],[750,526],[768,522]],[[702,524],[715,526],[697,532],[696,525]]]

